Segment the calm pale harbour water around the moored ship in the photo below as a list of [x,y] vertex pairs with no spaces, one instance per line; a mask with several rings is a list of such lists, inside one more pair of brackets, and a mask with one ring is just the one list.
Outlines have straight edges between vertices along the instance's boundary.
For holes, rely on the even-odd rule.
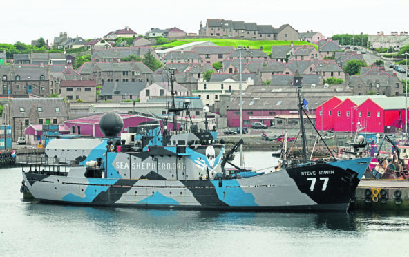
[[[240,162],[236,153],[234,163]],[[269,172],[271,153],[245,153]],[[0,256],[408,256],[409,213],[269,213],[64,206],[23,200],[0,169]]]

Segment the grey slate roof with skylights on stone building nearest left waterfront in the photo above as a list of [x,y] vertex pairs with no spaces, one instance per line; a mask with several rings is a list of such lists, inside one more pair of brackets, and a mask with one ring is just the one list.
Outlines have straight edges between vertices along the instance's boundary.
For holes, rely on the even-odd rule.
[[[39,117],[68,117],[63,98],[14,98],[10,99],[10,104],[12,117],[28,117],[31,109],[37,111]],[[20,111],[21,107],[24,111]],[[41,107],[41,111],[38,111],[38,107]],[[55,111],[55,107],[59,108],[59,112]]]

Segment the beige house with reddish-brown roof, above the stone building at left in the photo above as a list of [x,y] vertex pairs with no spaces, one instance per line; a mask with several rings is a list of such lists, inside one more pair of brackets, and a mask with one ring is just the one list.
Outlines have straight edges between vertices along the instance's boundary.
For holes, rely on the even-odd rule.
[[97,84],[95,80],[67,80],[61,81],[60,97],[68,101],[95,102],[97,98]]

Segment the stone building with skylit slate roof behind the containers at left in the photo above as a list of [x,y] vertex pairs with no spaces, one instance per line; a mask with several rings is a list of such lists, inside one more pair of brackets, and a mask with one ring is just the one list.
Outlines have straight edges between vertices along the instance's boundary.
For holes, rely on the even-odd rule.
[[62,98],[14,98],[4,105],[3,121],[12,125],[12,138],[24,136],[30,124],[62,124],[68,111]]

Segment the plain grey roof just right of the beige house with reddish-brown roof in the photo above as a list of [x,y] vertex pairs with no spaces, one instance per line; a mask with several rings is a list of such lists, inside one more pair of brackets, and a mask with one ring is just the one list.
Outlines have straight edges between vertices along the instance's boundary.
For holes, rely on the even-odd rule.
[[[139,95],[142,89],[148,86],[147,82],[105,82],[99,95]],[[115,94],[115,92],[117,92]]]

